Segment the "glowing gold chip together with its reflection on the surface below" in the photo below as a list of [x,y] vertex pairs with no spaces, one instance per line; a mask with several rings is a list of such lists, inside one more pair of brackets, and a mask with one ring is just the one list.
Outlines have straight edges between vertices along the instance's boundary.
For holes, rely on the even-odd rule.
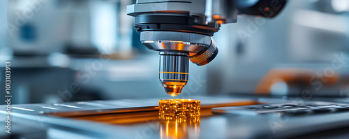
[[191,138],[200,132],[200,101],[166,99],[159,101],[161,138]]

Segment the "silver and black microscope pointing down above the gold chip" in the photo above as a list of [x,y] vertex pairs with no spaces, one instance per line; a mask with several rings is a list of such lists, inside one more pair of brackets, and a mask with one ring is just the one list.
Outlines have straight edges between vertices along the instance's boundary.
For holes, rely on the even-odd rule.
[[211,38],[238,14],[275,17],[287,0],[137,0],[127,6],[142,45],[160,54],[160,82],[177,96],[188,82],[189,60],[198,66],[218,54]]

